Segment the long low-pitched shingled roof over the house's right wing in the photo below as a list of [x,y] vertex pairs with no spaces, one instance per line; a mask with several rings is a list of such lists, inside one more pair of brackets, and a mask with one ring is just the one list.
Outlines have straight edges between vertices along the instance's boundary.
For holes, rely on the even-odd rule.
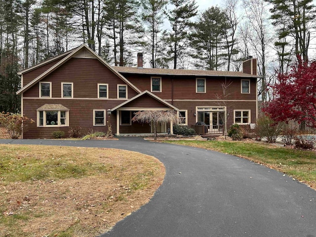
[[119,73],[146,74],[146,75],[169,75],[169,76],[195,76],[195,77],[242,77],[261,78],[257,75],[231,71],[210,71],[210,70],[184,70],[184,69],[163,69],[163,68],[130,68],[113,67]]

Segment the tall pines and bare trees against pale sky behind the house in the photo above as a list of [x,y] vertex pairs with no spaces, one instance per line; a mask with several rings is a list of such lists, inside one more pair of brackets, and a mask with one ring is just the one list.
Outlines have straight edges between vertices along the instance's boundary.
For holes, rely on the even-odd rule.
[[[19,112],[17,72],[87,43],[115,66],[240,71],[258,59],[258,99],[315,54],[313,0],[0,0],[0,111]],[[309,52],[310,50],[310,52]],[[314,50],[314,51],[313,51]]]

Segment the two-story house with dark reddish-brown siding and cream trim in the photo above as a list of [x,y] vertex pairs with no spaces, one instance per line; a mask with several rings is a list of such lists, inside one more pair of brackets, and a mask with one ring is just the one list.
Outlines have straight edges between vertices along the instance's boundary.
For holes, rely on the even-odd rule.
[[[243,72],[113,67],[85,44],[19,72],[22,114],[33,118],[23,138],[52,138],[52,132],[80,126],[117,135],[152,133],[151,124],[132,121],[144,110],[175,110],[183,125],[204,122],[222,133],[233,123],[256,122],[256,59]],[[173,124],[159,124],[166,132]]]

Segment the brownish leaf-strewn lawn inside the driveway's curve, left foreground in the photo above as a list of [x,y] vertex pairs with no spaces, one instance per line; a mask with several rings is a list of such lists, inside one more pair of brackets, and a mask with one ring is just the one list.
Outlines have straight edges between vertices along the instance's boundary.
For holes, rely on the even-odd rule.
[[[116,149],[0,145],[0,150],[5,153],[0,155],[0,236],[4,237],[104,233],[147,203],[165,174],[158,159]],[[50,165],[47,160],[55,162],[56,169],[47,168],[42,179],[34,178],[38,169]],[[82,175],[65,172],[68,164],[82,168]],[[33,176],[25,176],[25,166],[34,169]],[[21,181],[16,171],[21,172]]]

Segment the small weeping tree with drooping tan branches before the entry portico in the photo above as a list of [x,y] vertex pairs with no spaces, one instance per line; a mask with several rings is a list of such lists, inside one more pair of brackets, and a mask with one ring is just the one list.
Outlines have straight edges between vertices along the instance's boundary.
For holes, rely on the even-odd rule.
[[157,140],[157,124],[158,122],[178,122],[179,117],[174,110],[170,111],[153,111],[145,110],[138,111],[132,118],[132,121],[139,121],[145,123],[153,123],[154,126],[154,140]]

